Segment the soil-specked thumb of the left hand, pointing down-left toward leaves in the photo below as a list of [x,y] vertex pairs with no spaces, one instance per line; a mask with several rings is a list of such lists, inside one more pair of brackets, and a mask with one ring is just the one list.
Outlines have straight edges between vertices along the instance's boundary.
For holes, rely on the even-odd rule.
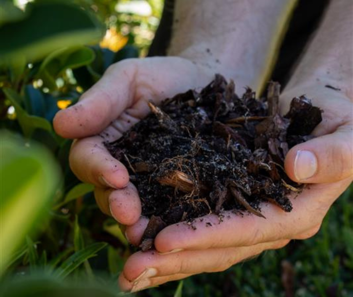
[[132,59],[109,67],[77,104],[55,115],[56,133],[64,138],[82,138],[104,130],[132,102],[135,70],[136,63]]

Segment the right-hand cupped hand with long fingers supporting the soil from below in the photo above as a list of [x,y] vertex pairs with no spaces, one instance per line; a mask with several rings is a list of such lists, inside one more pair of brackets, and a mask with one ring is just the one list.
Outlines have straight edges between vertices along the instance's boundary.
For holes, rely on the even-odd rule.
[[[119,278],[123,290],[138,291],[192,274],[223,271],[264,250],[318,232],[328,209],[353,178],[353,104],[349,95],[324,86],[297,86],[282,94],[282,111],[288,111],[291,99],[302,93],[314,98],[313,104],[324,113],[313,132],[317,138],[296,145],[285,159],[291,179],[311,183],[292,197],[293,210],[285,213],[263,203],[261,212],[267,219],[225,211],[221,223],[216,215],[209,215],[195,220],[196,229],[186,223],[168,226],[155,240],[156,251],[139,251],[127,260]],[[147,222],[141,218],[127,227],[131,243],[139,244]]]

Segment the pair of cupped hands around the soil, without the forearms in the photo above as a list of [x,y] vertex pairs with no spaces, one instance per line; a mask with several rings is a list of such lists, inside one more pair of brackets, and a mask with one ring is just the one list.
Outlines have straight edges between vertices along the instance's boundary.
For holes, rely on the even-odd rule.
[[[141,216],[139,194],[127,169],[102,142],[118,139],[145,117],[149,99],[159,103],[204,87],[213,78],[210,69],[180,57],[127,59],[109,67],[77,104],[54,118],[59,135],[77,139],[70,153],[73,172],[95,185],[100,209],[126,225],[126,238],[133,245],[139,245],[148,219]],[[239,88],[237,93],[241,93]],[[352,103],[347,94],[309,83],[283,91],[282,112],[289,110],[293,97],[303,93],[324,113],[313,132],[316,138],[296,145],[285,158],[289,177],[311,184],[292,197],[292,212],[263,204],[267,219],[229,212],[229,219],[220,224],[217,216],[208,215],[202,221],[196,219],[196,229],[187,224],[168,226],[156,237],[156,250],[139,251],[128,258],[119,277],[121,289],[138,291],[197,273],[223,271],[264,250],[318,232],[329,207],[352,181]],[[107,135],[105,139],[101,133]],[[206,227],[207,222],[212,227]]]

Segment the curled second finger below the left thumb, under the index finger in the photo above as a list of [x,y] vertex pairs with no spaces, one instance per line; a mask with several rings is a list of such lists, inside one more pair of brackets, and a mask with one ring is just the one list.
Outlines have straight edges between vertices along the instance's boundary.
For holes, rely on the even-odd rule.
[[133,225],[141,216],[141,201],[130,182],[123,189],[96,188],[95,198],[104,214],[123,225]]

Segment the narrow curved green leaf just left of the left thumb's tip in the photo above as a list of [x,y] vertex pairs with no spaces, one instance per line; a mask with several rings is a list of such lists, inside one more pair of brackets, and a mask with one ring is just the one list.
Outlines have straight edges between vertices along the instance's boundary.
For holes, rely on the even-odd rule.
[[19,101],[23,101],[19,94],[17,94],[14,90],[4,88],[3,89],[6,97],[10,100],[11,104],[15,108],[16,116],[21,126],[21,129],[25,135],[25,137],[31,137],[32,133],[36,129],[43,129],[49,132],[52,132],[52,125],[45,118],[31,116],[29,115],[18,103]]

